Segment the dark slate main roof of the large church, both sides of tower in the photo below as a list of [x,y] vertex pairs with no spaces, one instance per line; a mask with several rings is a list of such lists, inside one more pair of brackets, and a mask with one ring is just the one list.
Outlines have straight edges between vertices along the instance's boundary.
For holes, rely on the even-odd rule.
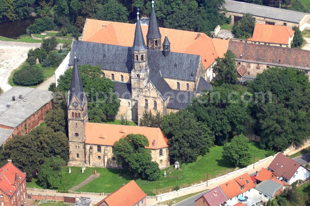
[[[132,69],[131,47],[74,40],[69,65],[74,63],[74,52],[79,59],[78,65],[100,65],[102,69],[128,73]],[[170,52],[165,57],[162,51],[148,50],[148,67],[151,77],[161,70],[163,78],[195,81],[199,59],[198,55],[176,52]],[[154,67],[155,71],[153,71]]]

